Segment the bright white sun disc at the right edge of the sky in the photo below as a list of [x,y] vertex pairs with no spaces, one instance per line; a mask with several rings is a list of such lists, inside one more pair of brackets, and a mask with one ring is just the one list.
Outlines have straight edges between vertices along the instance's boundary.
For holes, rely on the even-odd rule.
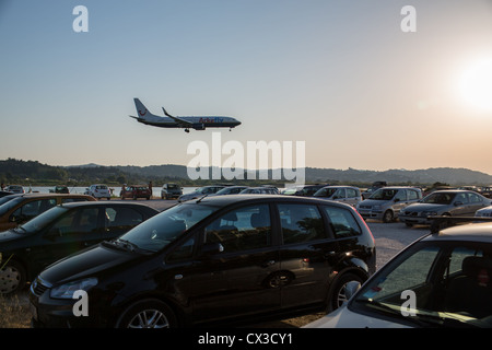
[[469,105],[492,110],[492,58],[472,63],[464,72],[459,86]]

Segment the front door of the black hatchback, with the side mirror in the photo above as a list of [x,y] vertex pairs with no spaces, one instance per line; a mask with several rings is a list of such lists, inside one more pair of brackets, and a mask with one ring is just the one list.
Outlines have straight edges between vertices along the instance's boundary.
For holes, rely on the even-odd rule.
[[220,214],[201,229],[194,262],[183,266],[179,288],[195,320],[274,310],[280,306],[279,253],[270,207],[247,205]]

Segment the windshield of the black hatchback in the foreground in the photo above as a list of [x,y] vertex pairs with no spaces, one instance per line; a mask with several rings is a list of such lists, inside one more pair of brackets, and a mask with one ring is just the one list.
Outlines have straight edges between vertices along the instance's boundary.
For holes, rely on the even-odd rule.
[[129,242],[132,246],[144,250],[160,252],[218,209],[219,207],[203,203],[178,205],[142,222],[118,241]]

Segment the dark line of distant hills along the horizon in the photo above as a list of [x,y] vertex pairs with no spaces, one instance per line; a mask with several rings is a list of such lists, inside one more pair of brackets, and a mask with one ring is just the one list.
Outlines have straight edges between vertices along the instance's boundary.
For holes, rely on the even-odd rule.
[[[210,178],[211,168],[208,168]],[[247,179],[246,173],[244,176]],[[256,176],[259,179],[259,176]],[[271,170],[269,171],[269,177]],[[435,183],[445,183],[453,186],[457,185],[492,185],[492,176],[483,172],[468,168],[454,167],[432,167],[425,170],[387,170],[368,171],[336,168],[305,168],[306,183],[345,183],[345,184],[372,184],[376,180],[385,180],[388,184],[412,184],[412,185],[432,185]],[[12,182],[42,183],[52,182],[141,182],[149,180],[155,184],[164,180],[190,182],[187,167],[185,165],[163,164],[163,165],[114,165],[105,166],[95,163],[70,166],[51,166],[42,164],[37,161],[22,161],[15,159],[0,160],[0,179],[5,184]],[[281,179],[281,182],[284,179]]]

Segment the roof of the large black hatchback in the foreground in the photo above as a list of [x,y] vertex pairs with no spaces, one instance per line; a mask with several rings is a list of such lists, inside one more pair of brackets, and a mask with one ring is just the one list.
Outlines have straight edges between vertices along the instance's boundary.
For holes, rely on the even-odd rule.
[[[216,207],[225,207],[239,202],[300,202],[300,203],[313,203],[313,205],[327,205],[326,200],[314,197],[297,197],[297,196],[284,196],[284,195],[230,195],[230,196],[202,196],[200,198],[189,200],[183,205],[189,203],[203,203]],[[350,207],[343,203],[330,202],[333,206]]]

